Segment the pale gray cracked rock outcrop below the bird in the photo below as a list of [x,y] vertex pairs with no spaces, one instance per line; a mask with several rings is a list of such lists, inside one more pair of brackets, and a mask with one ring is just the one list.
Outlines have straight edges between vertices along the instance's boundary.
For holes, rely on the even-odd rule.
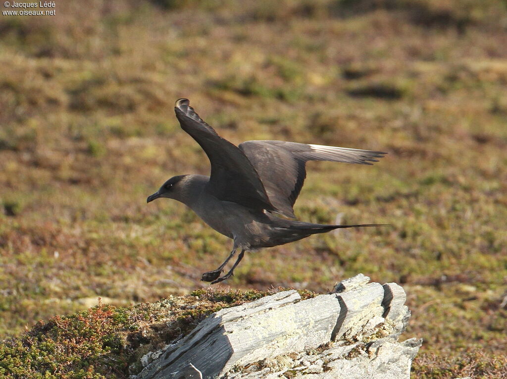
[[398,342],[410,311],[395,283],[358,274],[333,293],[284,291],[221,309],[143,357],[132,379],[409,379],[422,340]]

